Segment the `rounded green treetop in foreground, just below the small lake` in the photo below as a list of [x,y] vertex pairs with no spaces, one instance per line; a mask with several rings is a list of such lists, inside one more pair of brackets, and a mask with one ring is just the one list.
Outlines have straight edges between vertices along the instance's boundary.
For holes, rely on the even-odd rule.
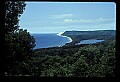
[[75,55],[79,55],[77,56],[80,57],[80,55],[86,57],[86,59],[84,59],[89,65],[94,65],[96,63],[99,63],[100,60],[100,51],[96,46],[85,46],[85,47],[81,47],[79,49],[79,51],[75,54]]

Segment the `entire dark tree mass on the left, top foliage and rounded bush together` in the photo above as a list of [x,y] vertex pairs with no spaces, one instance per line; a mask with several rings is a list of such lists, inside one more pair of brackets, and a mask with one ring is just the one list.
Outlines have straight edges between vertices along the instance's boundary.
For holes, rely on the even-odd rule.
[[[5,72],[14,75],[16,65],[31,59],[35,39],[27,30],[19,29],[19,17],[25,9],[24,1],[5,3]],[[24,66],[23,66],[24,67]]]

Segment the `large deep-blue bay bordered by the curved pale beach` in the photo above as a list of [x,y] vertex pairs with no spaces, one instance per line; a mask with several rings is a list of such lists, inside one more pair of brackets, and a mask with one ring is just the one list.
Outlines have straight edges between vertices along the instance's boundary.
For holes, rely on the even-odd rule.
[[34,49],[37,48],[48,48],[48,47],[57,47],[63,46],[66,43],[70,42],[70,40],[66,37],[58,36],[55,34],[31,34],[34,36],[36,42],[36,46]]

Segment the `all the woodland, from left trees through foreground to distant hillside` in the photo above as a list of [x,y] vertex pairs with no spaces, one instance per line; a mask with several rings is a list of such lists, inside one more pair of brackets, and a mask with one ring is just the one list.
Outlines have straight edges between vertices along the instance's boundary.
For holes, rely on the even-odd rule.
[[[64,35],[71,37],[72,43],[33,49],[34,37],[18,25],[25,6],[24,1],[5,3],[5,76],[115,77],[116,31],[99,31],[92,35],[68,31]],[[106,41],[74,45],[90,38]]]

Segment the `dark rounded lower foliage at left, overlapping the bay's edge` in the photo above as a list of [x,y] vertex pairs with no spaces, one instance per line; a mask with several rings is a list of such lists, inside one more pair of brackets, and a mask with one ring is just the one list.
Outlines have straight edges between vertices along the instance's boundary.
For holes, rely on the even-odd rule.
[[29,60],[33,54],[35,39],[27,30],[18,30],[14,34],[9,34],[5,39],[5,68],[6,71],[14,69],[15,63]]

